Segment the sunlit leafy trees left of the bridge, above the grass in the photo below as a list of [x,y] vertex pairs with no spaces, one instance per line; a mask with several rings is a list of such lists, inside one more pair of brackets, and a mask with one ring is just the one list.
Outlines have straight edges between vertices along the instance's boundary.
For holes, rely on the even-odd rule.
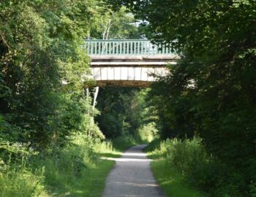
[[81,46],[93,9],[87,0],[1,1],[1,138],[45,147],[85,130],[89,58]]

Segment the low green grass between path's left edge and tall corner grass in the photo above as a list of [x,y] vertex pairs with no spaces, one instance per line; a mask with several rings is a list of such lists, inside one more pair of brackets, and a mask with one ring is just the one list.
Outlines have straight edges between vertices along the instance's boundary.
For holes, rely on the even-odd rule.
[[45,164],[45,183],[56,196],[101,196],[105,179],[115,164],[115,161],[103,159],[102,155],[120,156],[121,152],[117,152],[110,142],[86,144],[78,140],[76,145],[62,152],[59,166]]

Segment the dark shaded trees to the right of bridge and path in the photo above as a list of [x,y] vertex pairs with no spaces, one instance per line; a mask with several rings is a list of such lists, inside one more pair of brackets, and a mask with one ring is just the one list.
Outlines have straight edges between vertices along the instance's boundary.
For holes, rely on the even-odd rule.
[[[200,136],[215,161],[202,166],[210,185],[232,185],[229,190],[237,191],[233,195],[249,196],[256,182],[256,2],[110,3],[129,7],[144,21],[149,38],[172,43],[181,57],[149,96],[162,139]],[[222,179],[224,171],[229,179]]]

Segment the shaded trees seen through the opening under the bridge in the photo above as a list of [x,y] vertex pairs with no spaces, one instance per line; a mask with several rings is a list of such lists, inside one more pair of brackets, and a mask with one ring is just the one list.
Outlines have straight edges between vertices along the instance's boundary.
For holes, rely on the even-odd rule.
[[154,120],[146,102],[147,90],[105,87],[99,90],[96,118],[99,128],[109,138],[138,135],[138,129]]

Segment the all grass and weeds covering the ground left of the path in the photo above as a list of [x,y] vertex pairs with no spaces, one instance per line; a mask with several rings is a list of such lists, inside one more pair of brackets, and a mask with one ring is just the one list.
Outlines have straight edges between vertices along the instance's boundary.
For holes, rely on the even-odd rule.
[[114,162],[102,160],[100,152],[116,153],[111,142],[92,142],[83,134],[67,147],[37,155],[18,149],[10,159],[0,159],[1,197],[101,196]]

